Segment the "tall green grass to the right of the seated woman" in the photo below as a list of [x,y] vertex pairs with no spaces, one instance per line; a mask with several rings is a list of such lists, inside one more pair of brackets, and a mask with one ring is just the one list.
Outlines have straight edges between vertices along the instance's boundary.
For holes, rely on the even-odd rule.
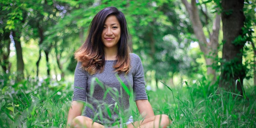
[[172,118],[170,127],[256,127],[255,87],[249,88],[248,98],[244,98],[200,82],[191,86],[187,82],[183,86],[165,86],[166,89],[150,91],[149,95],[155,113]]

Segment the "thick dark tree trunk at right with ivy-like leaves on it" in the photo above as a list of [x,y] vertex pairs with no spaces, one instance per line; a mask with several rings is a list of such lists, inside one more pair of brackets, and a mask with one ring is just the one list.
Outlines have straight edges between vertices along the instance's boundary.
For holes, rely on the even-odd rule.
[[[243,95],[245,67],[242,65],[244,41],[237,37],[242,35],[244,27],[244,0],[222,0],[223,50],[221,77],[219,86]],[[236,80],[240,80],[237,82]]]

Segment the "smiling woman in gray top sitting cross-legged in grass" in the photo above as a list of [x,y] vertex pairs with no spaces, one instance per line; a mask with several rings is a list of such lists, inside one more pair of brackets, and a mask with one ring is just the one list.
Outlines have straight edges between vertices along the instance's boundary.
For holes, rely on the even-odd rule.
[[[75,58],[78,64],[68,127],[158,128],[171,123],[165,114],[154,115],[146,95],[142,62],[129,53],[127,23],[117,8],[107,7],[95,15]],[[128,121],[131,90],[144,118],[141,121]]]

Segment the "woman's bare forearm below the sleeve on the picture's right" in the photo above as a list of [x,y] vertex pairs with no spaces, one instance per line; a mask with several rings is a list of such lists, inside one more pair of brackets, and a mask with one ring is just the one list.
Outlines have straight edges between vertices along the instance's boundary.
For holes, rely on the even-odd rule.
[[140,99],[135,102],[143,118],[149,118],[149,117],[155,116],[153,109],[147,99]]

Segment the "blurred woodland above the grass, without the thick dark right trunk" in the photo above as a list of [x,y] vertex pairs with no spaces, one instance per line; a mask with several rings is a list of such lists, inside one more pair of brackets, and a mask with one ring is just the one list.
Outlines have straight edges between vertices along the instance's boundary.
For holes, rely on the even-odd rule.
[[[242,65],[224,67],[233,76],[242,72],[239,78],[246,86],[255,85],[254,2],[241,3],[246,17],[240,28]],[[223,76],[225,26],[219,0],[2,0],[0,6],[0,75],[10,80],[6,84],[29,79],[72,83],[74,52],[85,41],[93,17],[109,6],[126,17],[131,50],[142,59],[148,89],[184,80],[216,84]]]

